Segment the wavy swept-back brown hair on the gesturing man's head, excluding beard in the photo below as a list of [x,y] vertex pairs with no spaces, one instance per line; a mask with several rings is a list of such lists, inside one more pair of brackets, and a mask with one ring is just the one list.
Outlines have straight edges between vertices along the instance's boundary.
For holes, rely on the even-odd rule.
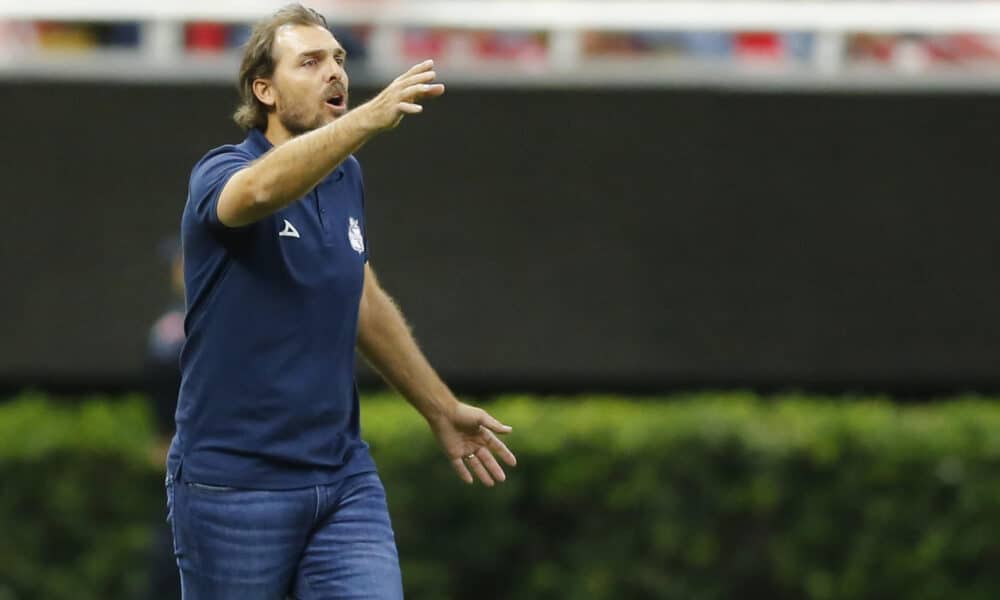
[[289,4],[268,19],[254,25],[243,49],[240,63],[240,104],[233,120],[244,130],[267,126],[268,107],[253,93],[253,82],[274,75],[274,34],[285,25],[318,25],[327,29],[326,18],[301,4]]

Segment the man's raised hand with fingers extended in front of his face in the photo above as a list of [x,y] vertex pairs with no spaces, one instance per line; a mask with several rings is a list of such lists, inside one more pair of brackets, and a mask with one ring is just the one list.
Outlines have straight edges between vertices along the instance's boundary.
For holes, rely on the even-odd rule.
[[444,94],[444,84],[431,83],[435,77],[434,61],[425,60],[394,79],[377,96],[358,107],[358,111],[366,113],[366,124],[372,130],[393,129],[406,115],[424,110],[419,104],[421,100]]

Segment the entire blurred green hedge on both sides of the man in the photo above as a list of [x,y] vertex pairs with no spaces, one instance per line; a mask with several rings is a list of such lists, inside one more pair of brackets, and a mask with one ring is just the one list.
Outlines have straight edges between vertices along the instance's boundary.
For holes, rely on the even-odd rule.
[[[520,464],[490,490],[366,399],[408,597],[1000,597],[1000,404],[665,400],[491,403]],[[128,597],[150,436],[136,399],[0,405],[0,599]]]

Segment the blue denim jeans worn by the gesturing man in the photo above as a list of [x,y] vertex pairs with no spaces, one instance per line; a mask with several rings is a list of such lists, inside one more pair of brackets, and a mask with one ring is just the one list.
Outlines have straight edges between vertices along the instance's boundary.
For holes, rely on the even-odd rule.
[[296,490],[166,483],[183,600],[403,597],[376,473]]

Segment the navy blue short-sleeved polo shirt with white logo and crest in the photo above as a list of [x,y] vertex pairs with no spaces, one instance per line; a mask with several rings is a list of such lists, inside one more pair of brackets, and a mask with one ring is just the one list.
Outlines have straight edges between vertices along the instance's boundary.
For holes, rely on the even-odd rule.
[[270,149],[254,129],[191,173],[187,339],[168,458],[183,481],[291,489],[375,469],[354,381],[368,260],[361,168],[352,156],[278,212],[226,227],[222,188]]

